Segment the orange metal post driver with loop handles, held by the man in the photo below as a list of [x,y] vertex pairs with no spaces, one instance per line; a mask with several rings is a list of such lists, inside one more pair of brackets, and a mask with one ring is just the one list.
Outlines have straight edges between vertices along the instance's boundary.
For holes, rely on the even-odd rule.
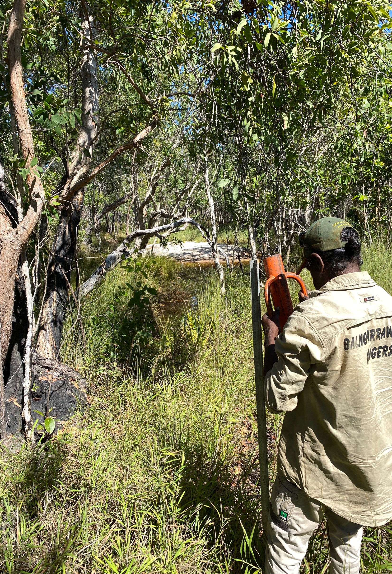
[[296,280],[301,287],[302,293],[305,296],[308,295],[308,290],[306,289],[304,281],[301,277],[295,273],[286,273],[283,266],[282,256],[280,253],[276,255],[271,255],[271,257],[266,257],[263,259],[264,269],[267,275],[267,281],[264,285],[264,298],[265,304],[267,306],[267,313],[270,317],[274,315],[274,310],[272,308],[271,299],[274,303],[275,309],[280,308],[280,330],[282,332],[283,327],[288,320],[289,316],[293,312],[293,301],[290,296],[288,279]]

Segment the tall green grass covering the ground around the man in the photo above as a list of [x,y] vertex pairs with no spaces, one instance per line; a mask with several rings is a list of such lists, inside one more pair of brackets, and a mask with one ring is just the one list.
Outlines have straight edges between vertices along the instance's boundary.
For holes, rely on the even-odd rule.
[[[390,257],[373,244],[363,269],[392,292]],[[222,301],[212,267],[154,261],[123,263],[82,302],[84,340],[68,313],[61,359],[91,406],[2,452],[3,572],[263,571],[249,275],[228,275]],[[267,416],[271,484],[281,420]],[[327,565],[322,524],[301,572]],[[391,570],[392,530],[366,529],[362,572]]]

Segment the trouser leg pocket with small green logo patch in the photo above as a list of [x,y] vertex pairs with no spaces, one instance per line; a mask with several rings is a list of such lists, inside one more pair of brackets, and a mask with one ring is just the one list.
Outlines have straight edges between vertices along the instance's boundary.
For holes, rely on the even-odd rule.
[[271,492],[270,515],[271,521],[285,532],[289,531],[290,520],[300,494],[301,491],[295,484],[277,476]]

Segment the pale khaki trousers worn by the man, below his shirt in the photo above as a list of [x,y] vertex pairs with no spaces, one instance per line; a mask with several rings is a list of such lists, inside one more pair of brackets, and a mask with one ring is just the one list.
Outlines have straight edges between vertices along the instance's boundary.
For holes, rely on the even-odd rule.
[[265,574],[298,574],[309,538],[324,517],[331,555],[328,574],[358,574],[362,526],[321,507],[279,476],[271,493]]

